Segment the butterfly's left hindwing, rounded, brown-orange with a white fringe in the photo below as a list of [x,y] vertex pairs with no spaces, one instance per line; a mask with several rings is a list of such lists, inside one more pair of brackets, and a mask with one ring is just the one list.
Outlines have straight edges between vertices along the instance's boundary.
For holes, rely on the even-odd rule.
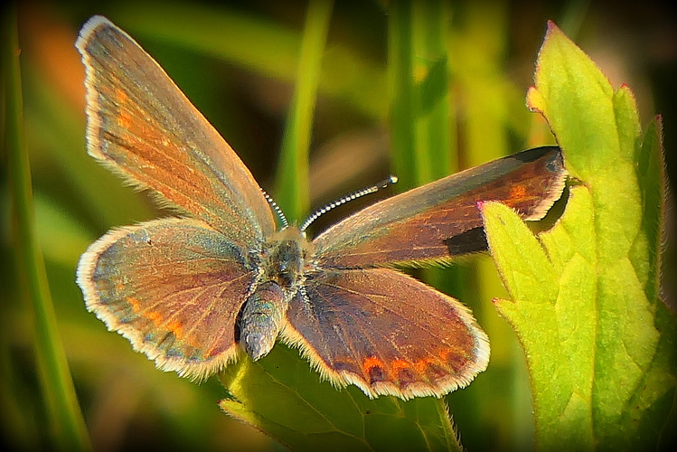
[[194,378],[235,358],[236,318],[256,276],[245,251],[190,219],[108,232],[78,268],[87,307],[109,330]]

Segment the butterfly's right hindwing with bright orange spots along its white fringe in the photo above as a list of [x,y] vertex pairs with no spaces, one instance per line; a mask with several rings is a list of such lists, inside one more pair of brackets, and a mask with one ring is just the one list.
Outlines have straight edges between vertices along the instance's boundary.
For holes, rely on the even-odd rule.
[[283,339],[325,378],[371,397],[440,396],[484,371],[489,344],[465,306],[390,268],[306,280]]

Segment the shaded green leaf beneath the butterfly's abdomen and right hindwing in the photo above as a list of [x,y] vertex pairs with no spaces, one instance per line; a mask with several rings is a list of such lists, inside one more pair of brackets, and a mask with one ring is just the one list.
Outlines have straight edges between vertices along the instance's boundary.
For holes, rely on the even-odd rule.
[[230,391],[221,409],[292,450],[459,449],[438,399],[370,400],[354,386],[337,390],[283,344],[264,360],[227,367],[220,378]]

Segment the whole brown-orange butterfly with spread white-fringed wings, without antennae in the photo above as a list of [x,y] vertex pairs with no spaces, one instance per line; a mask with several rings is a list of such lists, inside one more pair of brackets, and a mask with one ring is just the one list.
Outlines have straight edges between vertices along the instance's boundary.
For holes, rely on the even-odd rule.
[[180,212],[109,231],[80,258],[86,306],[109,330],[195,380],[277,339],[372,398],[439,397],[484,371],[488,338],[468,308],[397,268],[486,250],[478,202],[541,219],[564,186],[559,147],[401,193],[309,240],[277,227],[238,155],[127,33],[94,16],[76,47],[89,155]]

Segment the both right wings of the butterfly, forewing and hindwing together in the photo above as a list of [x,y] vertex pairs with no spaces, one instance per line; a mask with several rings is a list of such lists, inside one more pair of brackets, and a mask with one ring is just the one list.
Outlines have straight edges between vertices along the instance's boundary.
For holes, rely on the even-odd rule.
[[283,339],[326,378],[375,397],[440,396],[489,360],[486,334],[456,299],[391,268],[485,249],[477,202],[539,219],[566,177],[559,147],[541,147],[377,202],[315,241],[315,268],[287,312]]

